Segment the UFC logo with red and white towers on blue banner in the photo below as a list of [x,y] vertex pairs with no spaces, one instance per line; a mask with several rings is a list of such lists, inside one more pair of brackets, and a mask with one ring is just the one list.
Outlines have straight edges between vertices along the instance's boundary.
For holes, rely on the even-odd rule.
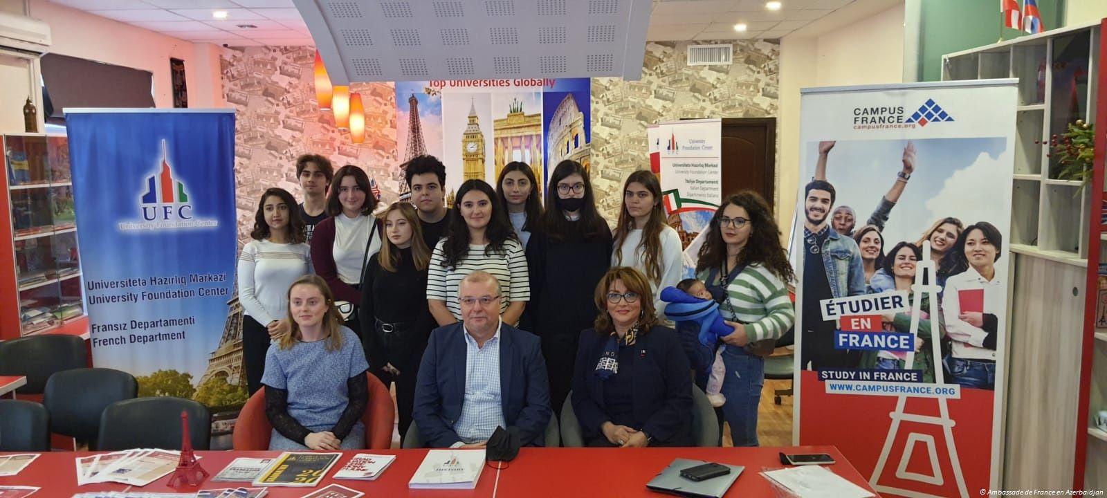
[[188,186],[174,175],[169,162],[168,144],[162,141],[162,157],[155,170],[143,181],[138,196],[141,220],[121,221],[120,230],[176,230],[186,228],[215,228],[216,219],[198,219],[193,216],[193,203]]

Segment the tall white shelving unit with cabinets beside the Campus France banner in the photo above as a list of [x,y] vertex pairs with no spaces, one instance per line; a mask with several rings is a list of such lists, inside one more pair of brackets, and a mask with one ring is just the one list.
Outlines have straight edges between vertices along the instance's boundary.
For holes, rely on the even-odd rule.
[[[1107,329],[1095,329],[1104,198],[1101,61],[1107,20],[943,56],[942,80],[1018,79],[1008,288],[1004,489],[1107,488]],[[1095,176],[1057,178],[1051,136],[1083,120],[1097,129]],[[1057,437],[1058,435],[1072,435]]]

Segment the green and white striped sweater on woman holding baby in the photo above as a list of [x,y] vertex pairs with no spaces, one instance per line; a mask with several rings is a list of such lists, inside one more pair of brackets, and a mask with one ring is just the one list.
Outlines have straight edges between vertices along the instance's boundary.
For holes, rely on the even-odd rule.
[[[707,279],[707,271],[696,276]],[[746,325],[749,341],[777,339],[796,321],[796,311],[784,282],[761,263],[746,266],[726,288],[730,307],[718,307],[725,320]],[[733,312],[731,311],[733,310]]]

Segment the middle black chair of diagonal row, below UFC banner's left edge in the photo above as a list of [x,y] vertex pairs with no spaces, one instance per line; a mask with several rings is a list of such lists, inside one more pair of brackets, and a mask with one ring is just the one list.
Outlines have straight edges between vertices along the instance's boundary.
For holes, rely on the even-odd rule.
[[138,394],[138,382],[112,369],[74,369],[58,372],[46,381],[43,404],[50,412],[50,429],[97,449],[100,415],[112,403]]

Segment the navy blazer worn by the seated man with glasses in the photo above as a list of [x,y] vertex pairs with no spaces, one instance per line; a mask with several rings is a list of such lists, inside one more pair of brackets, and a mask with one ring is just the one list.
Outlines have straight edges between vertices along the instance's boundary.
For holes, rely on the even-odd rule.
[[[431,447],[444,448],[462,440],[454,424],[465,403],[465,333],[462,322],[439,326],[431,331],[423,353],[412,418]],[[541,446],[551,415],[541,343],[537,335],[506,323],[499,330],[499,387],[505,428],[524,446]]]

